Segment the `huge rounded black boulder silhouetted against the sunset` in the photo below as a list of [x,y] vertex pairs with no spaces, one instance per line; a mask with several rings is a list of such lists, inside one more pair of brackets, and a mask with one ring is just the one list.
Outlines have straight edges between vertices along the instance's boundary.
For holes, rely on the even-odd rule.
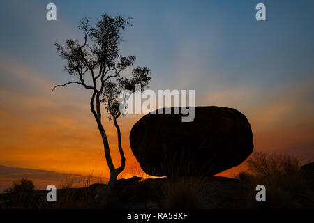
[[192,122],[182,114],[147,114],[130,132],[130,147],[151,176],[212,176],[235,167],[253,151],[251,125],[227,107],[195,107]]

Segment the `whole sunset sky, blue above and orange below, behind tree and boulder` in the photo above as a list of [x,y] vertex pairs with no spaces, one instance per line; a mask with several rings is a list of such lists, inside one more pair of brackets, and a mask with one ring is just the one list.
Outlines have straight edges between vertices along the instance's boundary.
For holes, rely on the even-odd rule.
[[[51,2],[57,22],[45,17]],[[257,3],[267,21],[255,20]],[[102,13],[133,17],[121,52],[151,69],[149,89],[195,89],[196,105],[246,115],[255,151],[314,160],[314,1],[13,0],[0,3],[0,165],[107,176],[91,92],[51,91],[75,78],[54,43],[82,39],[80,18],[95,22]],[[124,176],[139,172],[128,137],[140,117],[119,119]],[[117,166],[116,130],[104,123]]]

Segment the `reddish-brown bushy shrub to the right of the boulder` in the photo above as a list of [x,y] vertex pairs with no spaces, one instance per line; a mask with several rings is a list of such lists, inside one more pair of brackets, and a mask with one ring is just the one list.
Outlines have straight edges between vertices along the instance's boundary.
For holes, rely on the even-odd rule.
[[[284,153],[255,153],[248,161],[248,172],[239,174],[246,185],[248,208],[313,208],[313,182],[300,170],[300,160]],[[255,187],[266,187],[266,202],[257,202]]]

